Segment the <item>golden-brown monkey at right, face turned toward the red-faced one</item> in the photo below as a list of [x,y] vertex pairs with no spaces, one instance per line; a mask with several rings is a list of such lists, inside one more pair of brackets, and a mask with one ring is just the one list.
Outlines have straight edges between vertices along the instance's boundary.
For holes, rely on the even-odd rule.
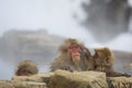
[[114,55],[108,47],[95,48],[95,70],[105,72],[108,77],[127,76],[128,74],[117,73],[113,69]]

